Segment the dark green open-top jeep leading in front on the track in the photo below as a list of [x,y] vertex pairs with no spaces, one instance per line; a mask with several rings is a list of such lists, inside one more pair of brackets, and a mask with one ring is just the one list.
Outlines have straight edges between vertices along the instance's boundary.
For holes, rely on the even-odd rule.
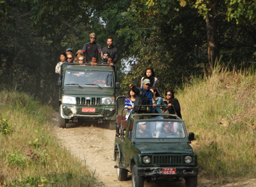
[[126,180],[130,172],[133,187],[143,186],[144,179],[172,178],[184,178],[187,187],[197,186],[197,155],[190,146],[194,133],[188,135],[183,120],[171,114],[133,112],[124,120],[122,113],[117,115],[114,153],[118,180]]

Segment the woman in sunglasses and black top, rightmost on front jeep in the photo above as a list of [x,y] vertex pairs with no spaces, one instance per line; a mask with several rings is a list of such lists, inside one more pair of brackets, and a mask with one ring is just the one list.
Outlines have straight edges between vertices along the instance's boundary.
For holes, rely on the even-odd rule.
[[[181,119],[181,113],[180,113],[180,105],[179,105],[179,102],[176,98],[174,98],[174,91],[173,90],[168,90],[166,91],[166,94],[165,94],[165,98],[167,100],[167,103],[168,103],[168,111],[169,111],[169,114],[175,114],[175,111],[176,111],[176,114],[177,116]],[[174,109],[175,111],[174,111]]]

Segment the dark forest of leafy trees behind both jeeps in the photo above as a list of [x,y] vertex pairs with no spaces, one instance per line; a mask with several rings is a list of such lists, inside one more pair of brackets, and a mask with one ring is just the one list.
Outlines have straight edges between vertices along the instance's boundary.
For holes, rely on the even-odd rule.
[[[24,91],[55,105],[55,66],[95,32],[119,50],[122,93],[154,68],[160,91],[211,74],[215,62],[235,70],[256,62],[255,0],[0,1],[0,89]],[[125,65],[131,66],[124,72]],[[121,78],[122,77],[122,78]]]

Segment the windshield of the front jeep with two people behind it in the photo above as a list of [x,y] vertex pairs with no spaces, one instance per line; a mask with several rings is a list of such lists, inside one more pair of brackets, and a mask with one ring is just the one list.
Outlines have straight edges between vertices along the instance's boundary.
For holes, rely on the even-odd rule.
[[144,121],[137,122],[136,138],[185,138],[186,130],[181,122]]

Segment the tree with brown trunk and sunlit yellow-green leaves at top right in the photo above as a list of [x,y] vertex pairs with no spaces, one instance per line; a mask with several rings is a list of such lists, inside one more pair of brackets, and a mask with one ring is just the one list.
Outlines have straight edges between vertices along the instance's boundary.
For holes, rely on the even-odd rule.
[[[217,14],[225,14],[226,19],[231,21],[236,20],[236,23],[255,24],[256,18],[256,1],[245,0],[179,0],[181,6],[186,6],[187,2],[191,7],[198,10],[198,14],[203,16],[207,28],[207,44],[208,44],[208,62],[212,68],[212,64],[219,58],[219,47],[216,31],[216,16]],[[220,5],[221,4],[221,5]],[[220,11],[217,11],[220,7]]]

